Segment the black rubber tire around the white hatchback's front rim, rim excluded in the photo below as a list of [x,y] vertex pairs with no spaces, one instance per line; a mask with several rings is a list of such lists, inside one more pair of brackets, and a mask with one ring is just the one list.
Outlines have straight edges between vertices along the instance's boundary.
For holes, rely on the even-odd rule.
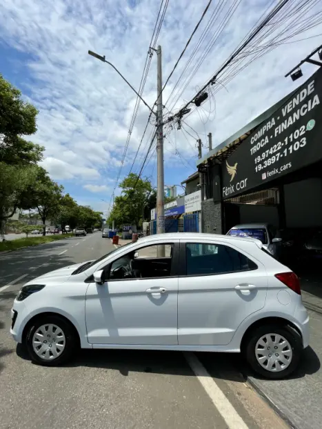
[[[46,324],[58,326],[63,331],[66,339],[65,348],[61,352],[61,355],[50,360],[43,359],[37,355],[37,353],[34,351],[34,348],[32,347],[32,338],[34,333],[38,330],[38,328]],[[74,327],[68,321],[66,321],[66,319],[60,317],[59,315],[48,315],[35,319],[34,323],[29,326],[26,335],[26,346],[32,361],[35,363],[39,363],[43,366],[59,366],[62,363],[67,362],[70,357],[72,357],[74,350],[76,350],[77,346],[79,346],[79,339]]]

